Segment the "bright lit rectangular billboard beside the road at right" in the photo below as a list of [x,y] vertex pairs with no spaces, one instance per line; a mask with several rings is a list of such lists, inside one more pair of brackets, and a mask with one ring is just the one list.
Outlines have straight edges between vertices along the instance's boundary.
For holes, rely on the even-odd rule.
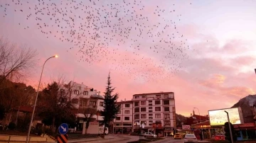
[[[228,112],[230,122],[233,125],[238,125],[242,124],[242,115],[240,112],[239,108],[227,108],[227,109],[219,109],[219,110],[209,110],[209,118],[210,118],[210,125],[224,125],[225,122],[228,122],[228,116],[227,113],[224,111]],[[241,120],[240,120],[241,118]]]

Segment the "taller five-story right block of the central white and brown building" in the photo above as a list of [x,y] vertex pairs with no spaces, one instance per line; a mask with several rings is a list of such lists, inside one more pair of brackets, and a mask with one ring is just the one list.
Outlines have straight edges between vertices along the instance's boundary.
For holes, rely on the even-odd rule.
[[[133,122],[144,123],[144,132],[156,135],[174,135],[176,128],[176,108],[173,92],[135,94],[133,102]],[[133,124],[133,132],[139,126]]]

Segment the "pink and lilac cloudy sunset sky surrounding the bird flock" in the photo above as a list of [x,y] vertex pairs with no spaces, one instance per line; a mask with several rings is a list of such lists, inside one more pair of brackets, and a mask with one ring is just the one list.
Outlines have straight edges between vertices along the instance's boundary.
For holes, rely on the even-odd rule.
[[[25,14],[14,12],[14,9],[28,9],[27,7],[17,7],[9,2],[7,15],[4,17],[2,13],[4,13],[6,1],[0,0],[0,4],[3,5],[0,7],[0,35],[18,45],[27,45],[37,50],[38,67],[26,80],[26,83],[32,86],[38,84],[43,62],[48,57],[58,54],[58,59],[50,59],[46,64],[43,83],[63,75],[67,82],[83,82],[103,94],[110,71],[112,85],[119,93],[119,100],[124,98],[131,100],[132,95],[137,93],[172,91],[175,93],[176,113],[186,116],[192,113],[194,107],[200,110],[201,115],[206,115],[208,110],[230,108],[240,98],[255,94],[256,1],[166,0],[161,4],[154,0],[146,3],[142,1],[145,11],[148,12],[147,16],[152,22],[160,21],[150,14],[156,5],[163,9],[170,9],[175,4],[177,14],[166,14],[164,18],[177,21],[176,15],[181,15],[181,21],[176,23],[176,28],[180,36],[183,35],[187,39],[186,44],[190,49],[187,50],[188,58],[181,60],[182,67],[176,74],[171,74],[167,69],[171,64],[167,59],[165,67],[161,67],[161,72],[157,72],[158,67],[149,67],[154,71],[150,74],[144,70],[129,73],[126,70],[127,65],[121,67],[117,62],[107,62],[105,57],[102,57],[102,62],[92,64],[78,62],[80,53],[74,45],[60,42],[54,36],[47,38],[41,30],[38,30],[33,18],[26,20]],[[32,0],[30,2],[33,3]],[[107,3],[118,2],[117,0],[105,1],[105,4]],[[169,25],[169,22],[166,21],[165,24]],[[29,28],[24,29],[26,25],[29,25]],[[146,39],[138,40],[138,43],[142,43],[142,49],[137,51],[137,54],[132,54],[134,51],[126,45],[118,46],[112,43],[109,49],[118,49],[119,56],[115,54],[109,56],[113,56],[117,61],[125,56],[128,56],[129,60],[145,57],[140,60],[137,67],[147,62],[154,65],[160,63],[164,52],[161,52],[163,55],[150,52],[148,48],[150,43]],[[69,50],[70,47],[74,49]],[[171,76],[166,76],[169,74]],[[145,75],[148,75],[146,79],[141,78]],[[198,113],[197,110],[195,112]]]

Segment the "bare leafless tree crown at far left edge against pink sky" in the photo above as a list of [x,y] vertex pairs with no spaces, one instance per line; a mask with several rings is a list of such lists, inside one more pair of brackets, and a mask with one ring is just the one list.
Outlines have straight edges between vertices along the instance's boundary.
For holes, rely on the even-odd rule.
[[36,50],[0,38],[0,84],[25,78],[36,65]]

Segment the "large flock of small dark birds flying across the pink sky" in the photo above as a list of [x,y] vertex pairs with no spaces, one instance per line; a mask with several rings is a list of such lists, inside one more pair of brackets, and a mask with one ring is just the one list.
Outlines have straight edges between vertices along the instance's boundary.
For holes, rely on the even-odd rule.
[[67,51],[75,50],[78,62],[107,62],[134,79],[162,81],[182,68],[191,50],[175,7],[138,0],[0,0],[0,20],[26,15],[24,24],[15,22],[73,45]]

